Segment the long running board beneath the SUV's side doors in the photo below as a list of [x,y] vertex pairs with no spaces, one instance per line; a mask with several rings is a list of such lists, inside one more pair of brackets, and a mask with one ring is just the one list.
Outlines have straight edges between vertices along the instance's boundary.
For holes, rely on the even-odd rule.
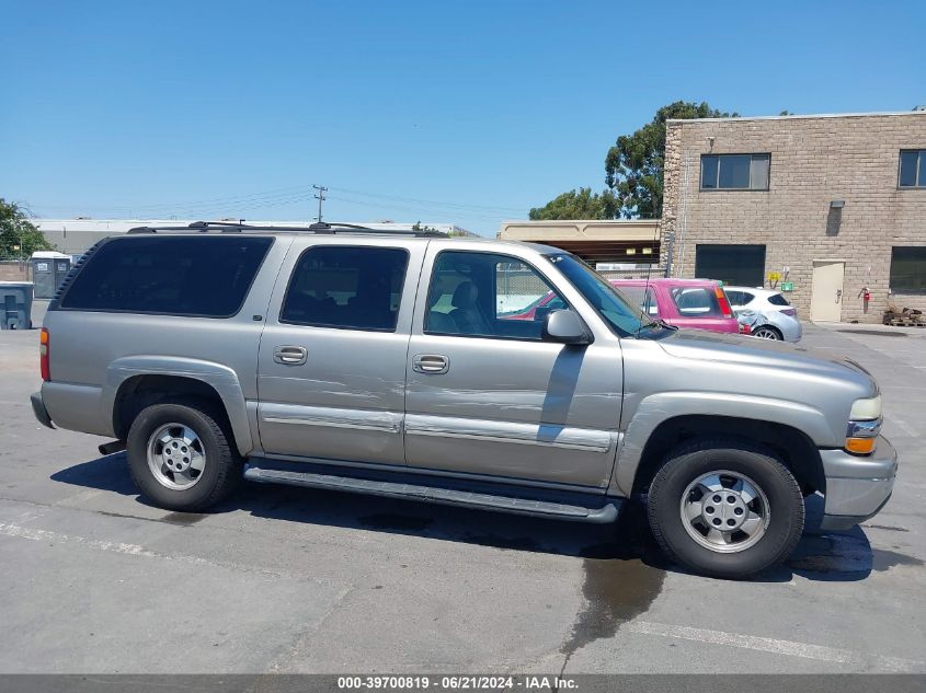
[[550,492],[427,474],[261,458],[248,460],[244,478],[262,484],[344,490],[595,523],[615,521],[624,503],[622,498],[611,498],[601,493]]

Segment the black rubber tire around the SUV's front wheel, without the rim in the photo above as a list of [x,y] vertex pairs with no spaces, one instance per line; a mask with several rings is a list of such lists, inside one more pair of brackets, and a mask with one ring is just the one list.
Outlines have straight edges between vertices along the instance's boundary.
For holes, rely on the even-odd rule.
[[[682,518],[688,485],[718,471],[748,477],[768,501],[764,533],[735,553],[698,543]],[[699,440],[673,450],[650,485],[647,510],[653,535],[671,559],[720,578],[747,578],[785,561],[800,541],[804,523],[801,489],[788,467],[763,447],[725,439]]]

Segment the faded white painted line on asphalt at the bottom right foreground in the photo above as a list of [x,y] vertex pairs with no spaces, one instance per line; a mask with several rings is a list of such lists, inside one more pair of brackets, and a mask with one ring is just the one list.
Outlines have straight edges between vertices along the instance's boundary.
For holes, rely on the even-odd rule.
[[823,645],[796,643],[793,640],[778,640],[770,637],[742,635],[740,633],[707,631],[704,628],[650,623],[647,621],[633,621],[631,623],[627,623],[621,626],[621,630],[630,631],[631,633],[641,633],[644,635],[677,637],[684,640],[710,643],[711,645],[724,645],[727,647],[740,647],[762,652],[774,652],[776,655],[787,655],[789,657],[832,661],[835,663],[851,665],[857,668],[870,669],[873,671],[926,671],[926,662],[915,661],[912,659],[882,657],[881,655],[866,655],[848,649],[825,647]]

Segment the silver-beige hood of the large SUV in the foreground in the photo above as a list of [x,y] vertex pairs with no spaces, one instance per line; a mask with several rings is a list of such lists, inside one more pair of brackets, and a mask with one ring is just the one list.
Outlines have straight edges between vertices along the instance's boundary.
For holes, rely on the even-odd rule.
[[797,373],[854,381],[868,393],[859,396],[874,396],[878,392],[871,374],[855,361],[799,345],[701,330],[679,330],[659,344],[670,356],[677,358],[781,369],[792,376]]

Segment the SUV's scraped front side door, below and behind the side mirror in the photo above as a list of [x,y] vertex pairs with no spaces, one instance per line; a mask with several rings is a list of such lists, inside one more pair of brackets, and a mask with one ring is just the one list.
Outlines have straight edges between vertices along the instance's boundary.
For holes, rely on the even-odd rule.
[[[522,331],[527,330],[528,321],[521,320],[516,311],[511,317],[492,315],[503,301],[498,298],[498,286],[495,296],[484,300],[484,287],[489,286],[484,280],[483,299],[478,286],[476,290],[460,288],[462,281],[456,284],[449,301],[447,293],[441,296],[441,289],[430,292],[428,285],[439,281],[439,273],[434,272],[431,281],[425,278],[431,277],[441,254],[467,254],[466,246],[444,249],[428,252],[416,300],[405,396],[408,464],[604,492],[620,419],[622,367],[617,339],[599,334],[594,344],[564,346],[519,338],[518,333],[527,334]],[[498,253],[481,254],[500,257]],[[556,287],[556,281],[550,284]],[[539,286],[534,293],[544,296],[547,290]],[[522,300],[530,298],[523,296]],[[430,319],[425,327],[425,314],[441,312],[442,303],[450,303],[453,310],[448,314],[445,305],[444,316]],[[503,325],[510,334],[438,334],[455,328],[449,321],[456,311],[472,311],[459,316],[457,324],[464,325],[485,319],[495,320],[498,326],[510,320],[512,324]]]

